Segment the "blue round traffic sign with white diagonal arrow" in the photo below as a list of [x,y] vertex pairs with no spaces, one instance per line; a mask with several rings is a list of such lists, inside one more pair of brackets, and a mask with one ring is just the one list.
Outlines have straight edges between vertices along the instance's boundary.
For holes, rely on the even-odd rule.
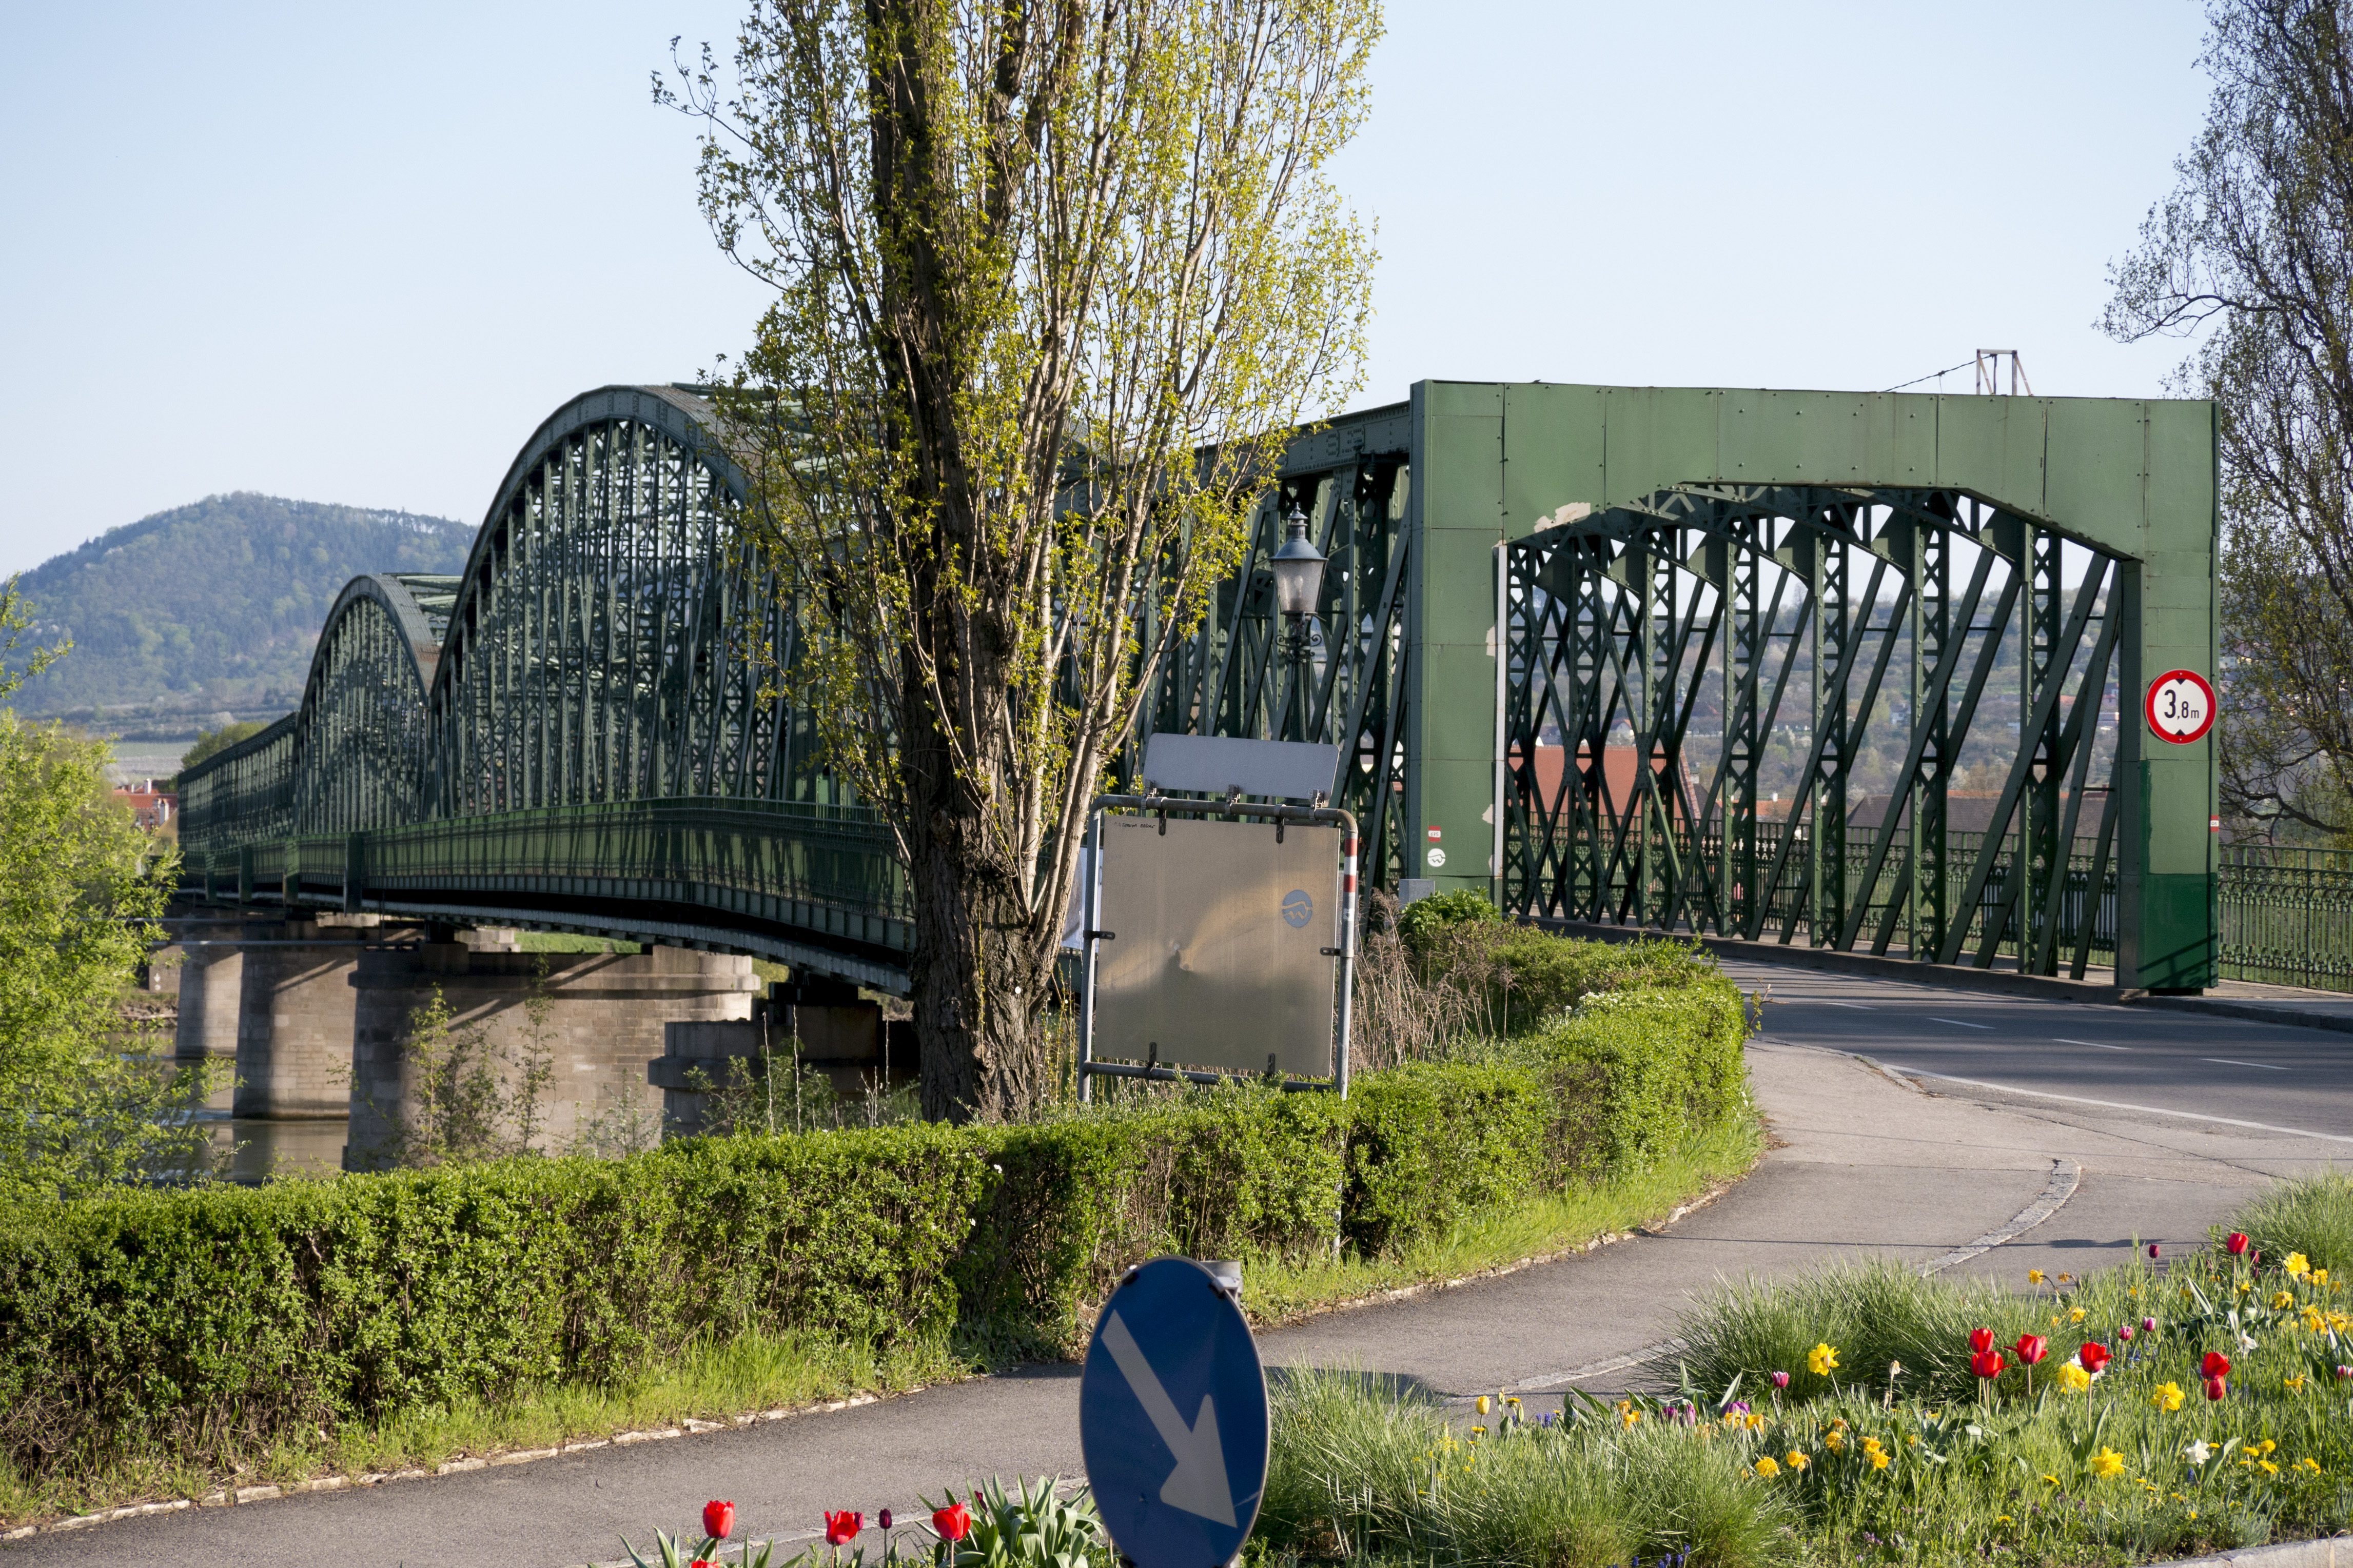
[[1191,1258],[1132,1269],[1078,1380],[1078,1446],[1136,1568],[1226,1568],[1266,1493],[1266,1371],[1242,1309]]

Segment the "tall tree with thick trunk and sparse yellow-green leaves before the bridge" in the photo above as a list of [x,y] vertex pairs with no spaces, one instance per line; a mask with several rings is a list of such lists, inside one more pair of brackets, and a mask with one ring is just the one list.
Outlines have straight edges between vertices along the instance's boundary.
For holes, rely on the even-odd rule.
[[[800,646],[899,832],[927,1117],[1000,1114],[1087,799],[1358,386],[1369,235],[1327,179],[1379,0],[755,0],[656,99],[774,289],[722,409]],[[729,80],[732,78],[732,80]]]

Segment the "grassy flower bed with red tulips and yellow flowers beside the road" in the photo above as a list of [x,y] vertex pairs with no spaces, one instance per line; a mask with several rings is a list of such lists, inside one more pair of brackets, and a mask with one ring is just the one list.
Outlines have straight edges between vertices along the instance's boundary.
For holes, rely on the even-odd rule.
[[1734,1288],[1685,1324],[1678,1394],[1565,1420],[1480,1401],[1466,1434],[1360,1378],[1301,1378],[1278,1396],[1261,1552],[2113,1563],[2334,1533],[2353,1526],[2348,1220],[2353,1185],[2325,1178],[2245,1213],[2252,1237],[2089,1281],[1861,1267]]

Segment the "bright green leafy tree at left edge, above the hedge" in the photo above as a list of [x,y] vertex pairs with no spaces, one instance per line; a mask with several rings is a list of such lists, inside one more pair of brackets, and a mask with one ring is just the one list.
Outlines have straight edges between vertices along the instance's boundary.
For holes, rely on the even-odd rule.
[[[0,590],[9,696],[64,646]],[[216,1084],[125,1053],[118,997],[158,936],[176,856],[106,788],[108,748],[0,708],[0,1204],[202,1173],[188,1112]]]

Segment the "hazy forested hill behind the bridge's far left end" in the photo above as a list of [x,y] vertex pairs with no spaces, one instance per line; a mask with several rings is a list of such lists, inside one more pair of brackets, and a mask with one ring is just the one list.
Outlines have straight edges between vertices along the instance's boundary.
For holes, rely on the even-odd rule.
[[141,517],[24,574],[38,639],[66,632],[73,651],[16,708],[282,712],[344,583],[459,571],[471,543],[473,524],[447,517],[247,491]]

